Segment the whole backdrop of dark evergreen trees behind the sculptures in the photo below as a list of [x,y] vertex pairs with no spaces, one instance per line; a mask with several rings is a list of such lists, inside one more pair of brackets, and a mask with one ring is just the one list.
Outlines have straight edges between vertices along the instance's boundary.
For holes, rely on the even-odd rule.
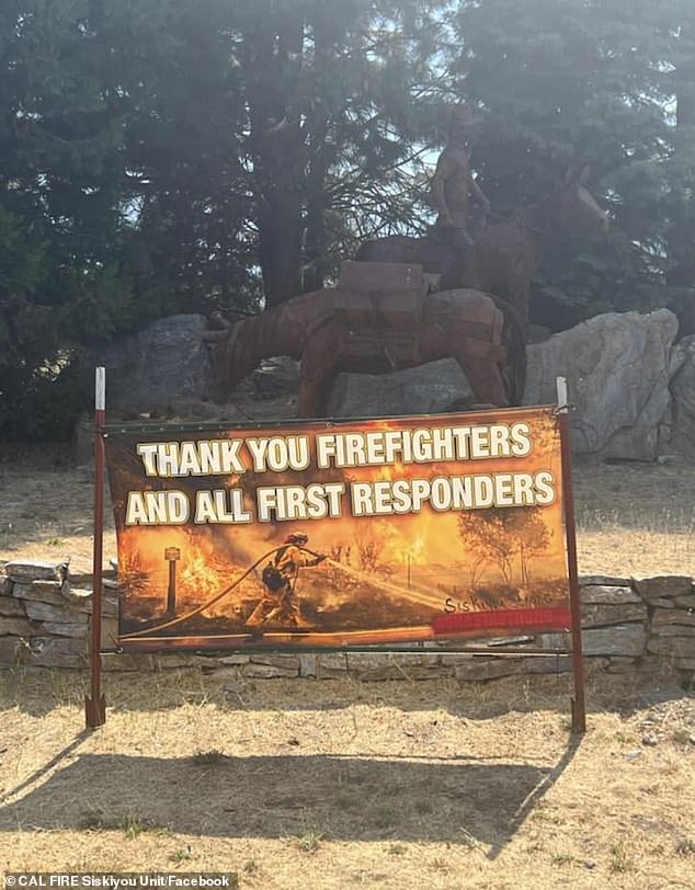
[[[176,311],[253,310],[421,231],[452,104],[497,213],[591,162],[607,239],[557,242],[561,327],[663,305],[695,203],[692,0],[4,0],[0,433],[83,401],[81,350]],[[682,297],[682,292],[679,295]]]

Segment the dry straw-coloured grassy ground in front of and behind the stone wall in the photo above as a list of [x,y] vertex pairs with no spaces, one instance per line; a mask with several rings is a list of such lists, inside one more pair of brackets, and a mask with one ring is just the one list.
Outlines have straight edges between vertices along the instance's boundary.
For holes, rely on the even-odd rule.
[[[695,467],[578,464],[581,573],[695,574]],[[91,567],[93,481],[0,456],[0,560]],[[105,557],[115,556],[111,524]],[[230,669],[231,671],[232,669]],[[568,680],[0,673],[0,870],[231,870],[242,888],[695,890],[695,699]]]

